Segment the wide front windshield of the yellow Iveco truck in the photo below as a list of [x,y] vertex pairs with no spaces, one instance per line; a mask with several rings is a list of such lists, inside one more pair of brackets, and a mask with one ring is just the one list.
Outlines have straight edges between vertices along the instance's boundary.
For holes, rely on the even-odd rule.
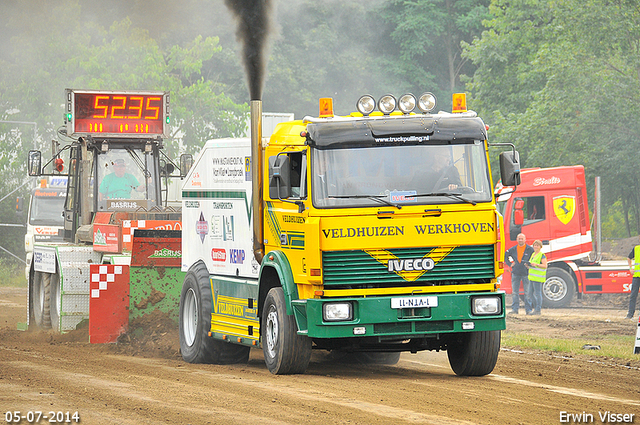
[[312,150],[317,208],[489,202],[482,141]]

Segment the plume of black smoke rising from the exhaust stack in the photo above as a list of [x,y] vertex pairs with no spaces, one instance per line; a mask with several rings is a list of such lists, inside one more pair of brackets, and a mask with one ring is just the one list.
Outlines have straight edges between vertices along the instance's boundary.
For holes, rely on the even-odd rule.
[[225,0],[238,21],[236,36],[242,44],[251,100],[262,98],[266,74],[267,38],[271,26],[271,0]]

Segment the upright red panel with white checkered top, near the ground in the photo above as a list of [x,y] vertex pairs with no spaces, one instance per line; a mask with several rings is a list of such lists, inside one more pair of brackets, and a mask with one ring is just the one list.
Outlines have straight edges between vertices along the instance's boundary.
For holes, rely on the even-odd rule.
[[89,341],[116,342],[129,328],[129,266],[90,267]]

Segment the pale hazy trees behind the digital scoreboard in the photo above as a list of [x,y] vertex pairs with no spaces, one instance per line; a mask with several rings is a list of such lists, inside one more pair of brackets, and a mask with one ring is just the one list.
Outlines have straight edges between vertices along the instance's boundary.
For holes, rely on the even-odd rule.
[[[244,132],[247,105],[233,102],[224,94],[224,84],[202,74],[204,63],[221,53],[217,38],[196,37],[163,50],[128,18],[108,29],[83,19],[76,0],[55,5],[25,0],[20,6],[4,6],[11,19],[3,18],[3,29],[13,36],[10,48],[1,50],[0,121],[37,123],[35,143],[45,156],[50,140],[68,140],[58,132],[65,88],[169,91],[173,134],[165,145],[174,158],[179,148],[195,153],[210,138]],[[0,194],[26,180],[32,134],[30,128],[0,123]],[[21,194],[26,196],[29,188]],[[15,198],[10,209],[0,208],[0,220],[15,220],[13,202]],[[22,246],[21,239],[10,239],[14,247]]]

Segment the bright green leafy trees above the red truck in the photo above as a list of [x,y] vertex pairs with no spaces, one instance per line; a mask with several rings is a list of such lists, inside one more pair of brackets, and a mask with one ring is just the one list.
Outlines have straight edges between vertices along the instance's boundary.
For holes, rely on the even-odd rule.
[[[466,47],[470,104],[525,167],[583,164],[640,231],[640,10],[623,0],[494,0]],[[594,31],[597,28],[597,31]],[[590,177],[590,178],[589,178]]]

